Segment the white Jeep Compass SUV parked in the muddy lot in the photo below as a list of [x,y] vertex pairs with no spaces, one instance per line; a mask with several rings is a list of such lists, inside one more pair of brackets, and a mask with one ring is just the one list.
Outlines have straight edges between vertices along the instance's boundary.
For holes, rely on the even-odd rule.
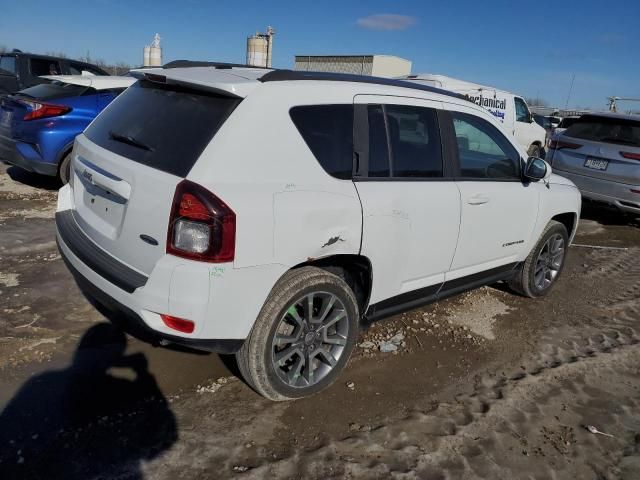
[[57,240],[84,291],[160,343],[235,353],[283,400],[371,321],[499,280],[546,294],[580,194],[457,94],[177,62],[77,137]]

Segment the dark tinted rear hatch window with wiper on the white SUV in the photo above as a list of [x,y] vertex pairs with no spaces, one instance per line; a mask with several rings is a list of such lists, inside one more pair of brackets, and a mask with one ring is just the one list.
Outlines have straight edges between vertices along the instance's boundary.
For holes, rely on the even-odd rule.
[[141,80],[84,132],[93,143],[134,162],[186,177],[237,98]]

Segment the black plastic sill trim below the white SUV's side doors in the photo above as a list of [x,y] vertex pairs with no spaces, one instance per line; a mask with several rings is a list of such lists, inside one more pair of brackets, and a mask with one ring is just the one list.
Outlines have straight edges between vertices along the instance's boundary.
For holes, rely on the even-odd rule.
[[442,300],[458,293],[490,285],[500,280],[508,280],[517,271],[520,262],[509,263],[484,272],[474,273],[466,277],[456,278],[444,283],[437,283],[412,292],[402,293],[395,297],[369,305],[365,314],[365,323],[371,323],[391,315],[406,312],[429,303]]

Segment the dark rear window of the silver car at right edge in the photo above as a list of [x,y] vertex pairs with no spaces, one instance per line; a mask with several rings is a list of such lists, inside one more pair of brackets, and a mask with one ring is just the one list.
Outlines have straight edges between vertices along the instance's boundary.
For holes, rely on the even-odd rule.
[[564,135],[593,142],[640,147],[640,120],[583,115]]

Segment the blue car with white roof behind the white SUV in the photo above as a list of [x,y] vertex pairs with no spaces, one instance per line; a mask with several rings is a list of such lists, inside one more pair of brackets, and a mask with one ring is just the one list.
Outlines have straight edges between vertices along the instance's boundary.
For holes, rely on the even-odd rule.
[[0,100],[0,159],[69,180],[73,141],[131,77],[57,75]]

